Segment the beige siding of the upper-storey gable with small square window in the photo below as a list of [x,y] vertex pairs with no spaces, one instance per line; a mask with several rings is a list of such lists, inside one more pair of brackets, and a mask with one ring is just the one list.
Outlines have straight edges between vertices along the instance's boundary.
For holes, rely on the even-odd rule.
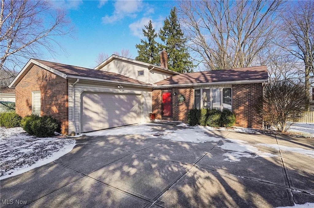
[[[126,60],[114,59],[104,67],[99,69],[101,71],[109,71],[123,76],[127,76],[145,83],[148,83],[148,68],[147,66],[133,63]],[[138,76],[137,72],[144,70],[144,76]]]

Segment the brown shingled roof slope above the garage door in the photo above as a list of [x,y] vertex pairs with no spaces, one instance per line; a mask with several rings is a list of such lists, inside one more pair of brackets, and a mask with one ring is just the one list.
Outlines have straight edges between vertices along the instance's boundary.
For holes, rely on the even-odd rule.
[[121,82],[130,82],[133,84],[148,85],[145,82],[138,81],[136,79],[132,79],[130,77],[116,74],[113,72],[94,70],[94,69],[89,69],[89,68],[84,68],[84,67],[79,67],[79,66],[54,63],[54,62],[43,61],[43,60],[38,60],[38,59],[33,59],[33,60],[38,61],[39,63],[46,65],[54,70],[60,71],[61,73],[66,74],[66,75],[82,76],[82,77],[89,77],[89,78],[97,78],[97,79],[104,79],[104,80],[111,80],[111,81],[121,81]]

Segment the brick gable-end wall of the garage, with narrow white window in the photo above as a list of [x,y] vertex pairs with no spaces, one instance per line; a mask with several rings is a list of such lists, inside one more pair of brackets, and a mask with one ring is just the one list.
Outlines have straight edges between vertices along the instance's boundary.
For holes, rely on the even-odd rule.
[[56,118],[68,134],[68,80],[34,65],[15,87],[15,111],[22,117],[32,113],[32,91],[41,91],[41,116]]

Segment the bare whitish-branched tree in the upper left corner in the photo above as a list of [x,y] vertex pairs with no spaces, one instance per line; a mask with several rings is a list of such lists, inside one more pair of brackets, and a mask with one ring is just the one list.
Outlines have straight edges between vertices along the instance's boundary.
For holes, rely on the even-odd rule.
[[54,8],[49,1],[1,0],[0,68],[3,77],[14,77],[25,59],[38,58],[43,49],[53,55],[54,46],[62,46],[57,36],[71,35],[73,27],[63,9]]

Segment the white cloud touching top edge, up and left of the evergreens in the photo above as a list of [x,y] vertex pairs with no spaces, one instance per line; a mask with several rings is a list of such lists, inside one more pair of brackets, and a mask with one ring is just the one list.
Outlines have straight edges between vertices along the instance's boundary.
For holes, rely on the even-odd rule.
[[124,17],[136,17],[138,12],[142,11],[142,1],[116,1],[114,3],[113,14],[102,18],[103,23],[114,23]]

